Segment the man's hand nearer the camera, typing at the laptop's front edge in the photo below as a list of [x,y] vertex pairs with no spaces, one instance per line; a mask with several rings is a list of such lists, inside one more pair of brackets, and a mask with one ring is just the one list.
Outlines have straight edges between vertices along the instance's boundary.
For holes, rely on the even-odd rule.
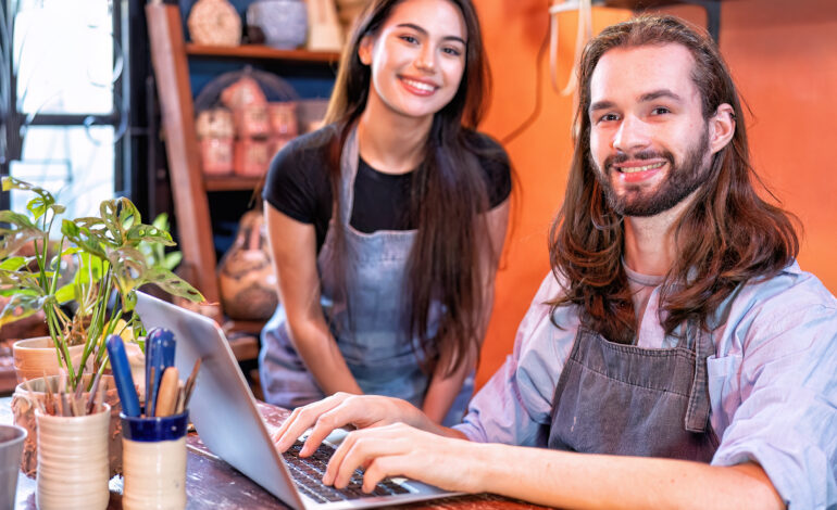
[[387,476],[408,476],[446,490],[476,493],[480,487],[480,452],[486,445],[442,437],[404,423],[349,433],[323,476],[345,488],[358,468],[365,468],[363,490]]

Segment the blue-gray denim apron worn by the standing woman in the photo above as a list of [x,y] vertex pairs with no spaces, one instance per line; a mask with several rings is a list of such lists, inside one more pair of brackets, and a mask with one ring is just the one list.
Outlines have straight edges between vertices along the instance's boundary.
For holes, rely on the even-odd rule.
[[[358,162],[357,129],[353,129],[340,156],[340,225],[333,216],[317,256],[323,314],[364,393],[403,398],[421,407],[429,381],[418,366],[413,339],[403,326],[405,268],[416,231],[363,233],[349,225]],[[327,270],[335,250],[334,232],[338,228],[342,229],[350,259],[345,297]],[[437,307],[435,320],[439,313]],[[429,320],[433,326],[434,318]],[[430,328],[429,333],[434,330]],[[293,348],[282,305],[262,331],[259,373],[268,403],[293,408],[325,396]],[[471,374],[448,412],[446,424],[461,421],[473,390]]]

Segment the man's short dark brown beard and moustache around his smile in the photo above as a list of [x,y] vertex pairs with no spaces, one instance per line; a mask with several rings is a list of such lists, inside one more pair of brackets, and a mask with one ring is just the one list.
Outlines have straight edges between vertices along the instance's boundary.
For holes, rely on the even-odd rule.
[[[688,151],[682,165],[675,166],[674,155],[669,151],[642,151],[633,155],[619,153],[604,160],[604,169],[598,168],[596,162],[592,162],[596,168],[596,178],[604,189],[608,199],[608,205],[622,216],[654,216],[664,211],[669,211],[679,204],[684,199],[700,188],[709,174],[710,161],[704,162],[709,153],[709,128],[704,128],[698,143]],[[669,162],[669,176],[657,190],[644,190],[641,186],[627,184],[626,191],[622,196],[611,186],[609,176],[611,173],[619,171],[613,167],[614,164],[623,163],[627,160],[652,160],[663,158]]]

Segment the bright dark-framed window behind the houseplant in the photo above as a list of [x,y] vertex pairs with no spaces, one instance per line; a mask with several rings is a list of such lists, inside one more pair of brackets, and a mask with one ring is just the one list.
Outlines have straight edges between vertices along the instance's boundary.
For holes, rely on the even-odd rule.
[[71,217],[124,191],[120,20],[118,0],[7,0],[0,18],[0,173],[50,190]]

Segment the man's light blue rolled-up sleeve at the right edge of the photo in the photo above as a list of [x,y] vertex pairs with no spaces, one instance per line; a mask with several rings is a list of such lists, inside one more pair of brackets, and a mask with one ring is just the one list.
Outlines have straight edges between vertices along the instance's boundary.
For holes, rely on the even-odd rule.
[[[794,269],[794,268],[791,268]],[[751,286],[709,360],[712,463],[758,462],[786,505],[837,508],[837,303],[795,270]]]

